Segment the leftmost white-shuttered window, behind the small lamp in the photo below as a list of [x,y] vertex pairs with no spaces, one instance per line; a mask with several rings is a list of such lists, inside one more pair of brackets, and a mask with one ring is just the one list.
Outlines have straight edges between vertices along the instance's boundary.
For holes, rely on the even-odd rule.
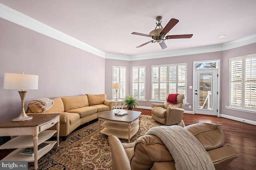
[[126,67],[112,67],[112,83],[121,83],[118,94],[116,94],[116,90],[112,89],[112,99],[116,99],[116,95],[118,95],[118,99],[124,99],[126,94]]

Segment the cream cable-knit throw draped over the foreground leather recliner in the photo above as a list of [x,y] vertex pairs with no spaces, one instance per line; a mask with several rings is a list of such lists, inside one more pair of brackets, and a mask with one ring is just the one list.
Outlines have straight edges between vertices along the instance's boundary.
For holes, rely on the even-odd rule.
[[153,127],[146,135],[155,135],[162,140],[172,154],[176,170],[215,170],[204,147],[183,127],[178,125]]

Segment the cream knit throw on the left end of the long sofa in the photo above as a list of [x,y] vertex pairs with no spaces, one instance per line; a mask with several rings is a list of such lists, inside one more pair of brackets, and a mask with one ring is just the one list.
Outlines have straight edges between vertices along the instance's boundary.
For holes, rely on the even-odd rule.
[[29,104],[37,104],[38,106],[40,106],[43,111],[45,112],[46,110],[49,110],[52,105],[53,105],[54,101],[48,98],[39,98],[39,99],[33,99],[30,102],[28,102],[25,106],[25,112],[28,112],[28,105]]

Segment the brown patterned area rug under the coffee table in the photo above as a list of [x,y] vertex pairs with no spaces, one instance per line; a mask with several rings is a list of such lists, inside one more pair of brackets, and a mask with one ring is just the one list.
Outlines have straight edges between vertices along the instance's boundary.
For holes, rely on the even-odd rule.
[[[141,115],[140,129],[131,142],[145,135],[150,128],[160,125],[151,116]],[[126,139],[120,141],[128,142]],[[34,163],[29,163],[28,169],[34,169]],[[111,170],[108,136],[98,133],[98,122],[84,127],[68,135],[58,148],[54,147],[40,158],[38,170]]]

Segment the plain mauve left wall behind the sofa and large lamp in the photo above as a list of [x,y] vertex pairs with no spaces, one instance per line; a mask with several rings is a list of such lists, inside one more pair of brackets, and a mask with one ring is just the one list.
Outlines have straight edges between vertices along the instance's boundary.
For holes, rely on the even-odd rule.
[[0,18],[0,122],[18,117],[18,90],[3,89],[4,73],[39,76],[38,90],[25,103],[105,92],[105,59]]

